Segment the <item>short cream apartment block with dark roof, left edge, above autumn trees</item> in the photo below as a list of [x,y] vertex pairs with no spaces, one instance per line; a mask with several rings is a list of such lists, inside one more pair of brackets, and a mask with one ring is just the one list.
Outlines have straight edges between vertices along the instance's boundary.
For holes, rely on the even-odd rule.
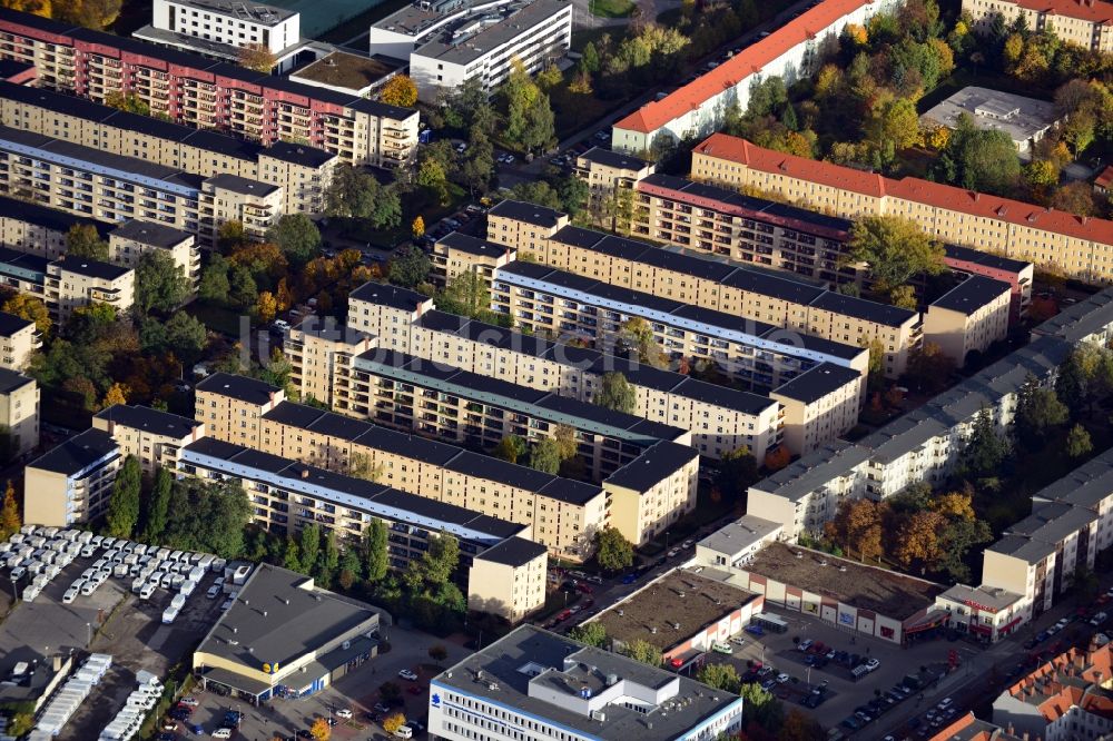
[[135,302],[135,270],[90,259],[49,261],[4,247],[0,247],[0,286],[35,296],[60,323],[79,306],[102,303],[125,312]]

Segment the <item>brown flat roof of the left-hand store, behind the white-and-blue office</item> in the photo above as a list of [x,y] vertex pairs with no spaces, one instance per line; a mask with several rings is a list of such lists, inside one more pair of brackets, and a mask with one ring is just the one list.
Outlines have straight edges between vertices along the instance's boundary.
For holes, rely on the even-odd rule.
[[[623,643],[641,639],[668,651],[757,596],[725,582],[677,570],[599,613],[594,622]],[[673,628],[677,623],[679,630]]]

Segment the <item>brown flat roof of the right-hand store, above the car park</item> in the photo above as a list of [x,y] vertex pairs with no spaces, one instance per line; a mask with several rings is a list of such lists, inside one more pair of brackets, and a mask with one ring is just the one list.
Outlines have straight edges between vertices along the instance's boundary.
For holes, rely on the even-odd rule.
[[[797,552],[804,557],[797,559]],[[821,560],[826,566],[819,565]],[[893,620],[912,618],[944,592],[939,584],[784,543],[769,543],[758,551],[746,571]]]

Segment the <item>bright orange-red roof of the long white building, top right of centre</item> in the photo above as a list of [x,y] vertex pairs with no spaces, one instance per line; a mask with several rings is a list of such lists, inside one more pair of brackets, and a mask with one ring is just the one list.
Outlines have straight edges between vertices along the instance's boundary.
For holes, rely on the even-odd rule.
[[738,85],[751,75],[760,72],[798,43],[816,38],[824,29],[873,0],[824,0],[815,8],[794,18],[764,39],[751,43],[710,72],[672,91],[661,100],[642,106],[615,124],[615,128],[650,134],[669,121],[680,118]]

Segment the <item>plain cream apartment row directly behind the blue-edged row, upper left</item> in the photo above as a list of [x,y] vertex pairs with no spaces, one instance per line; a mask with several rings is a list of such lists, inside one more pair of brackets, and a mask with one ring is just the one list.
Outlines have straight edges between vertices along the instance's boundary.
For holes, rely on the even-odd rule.
[[234,175],[282,188],[282,213],[322,214],[339,157],[305,144],[264,146],[129,113],[43,88],[0,81],[0,118],[14,129],[180,168],[203,178]]

